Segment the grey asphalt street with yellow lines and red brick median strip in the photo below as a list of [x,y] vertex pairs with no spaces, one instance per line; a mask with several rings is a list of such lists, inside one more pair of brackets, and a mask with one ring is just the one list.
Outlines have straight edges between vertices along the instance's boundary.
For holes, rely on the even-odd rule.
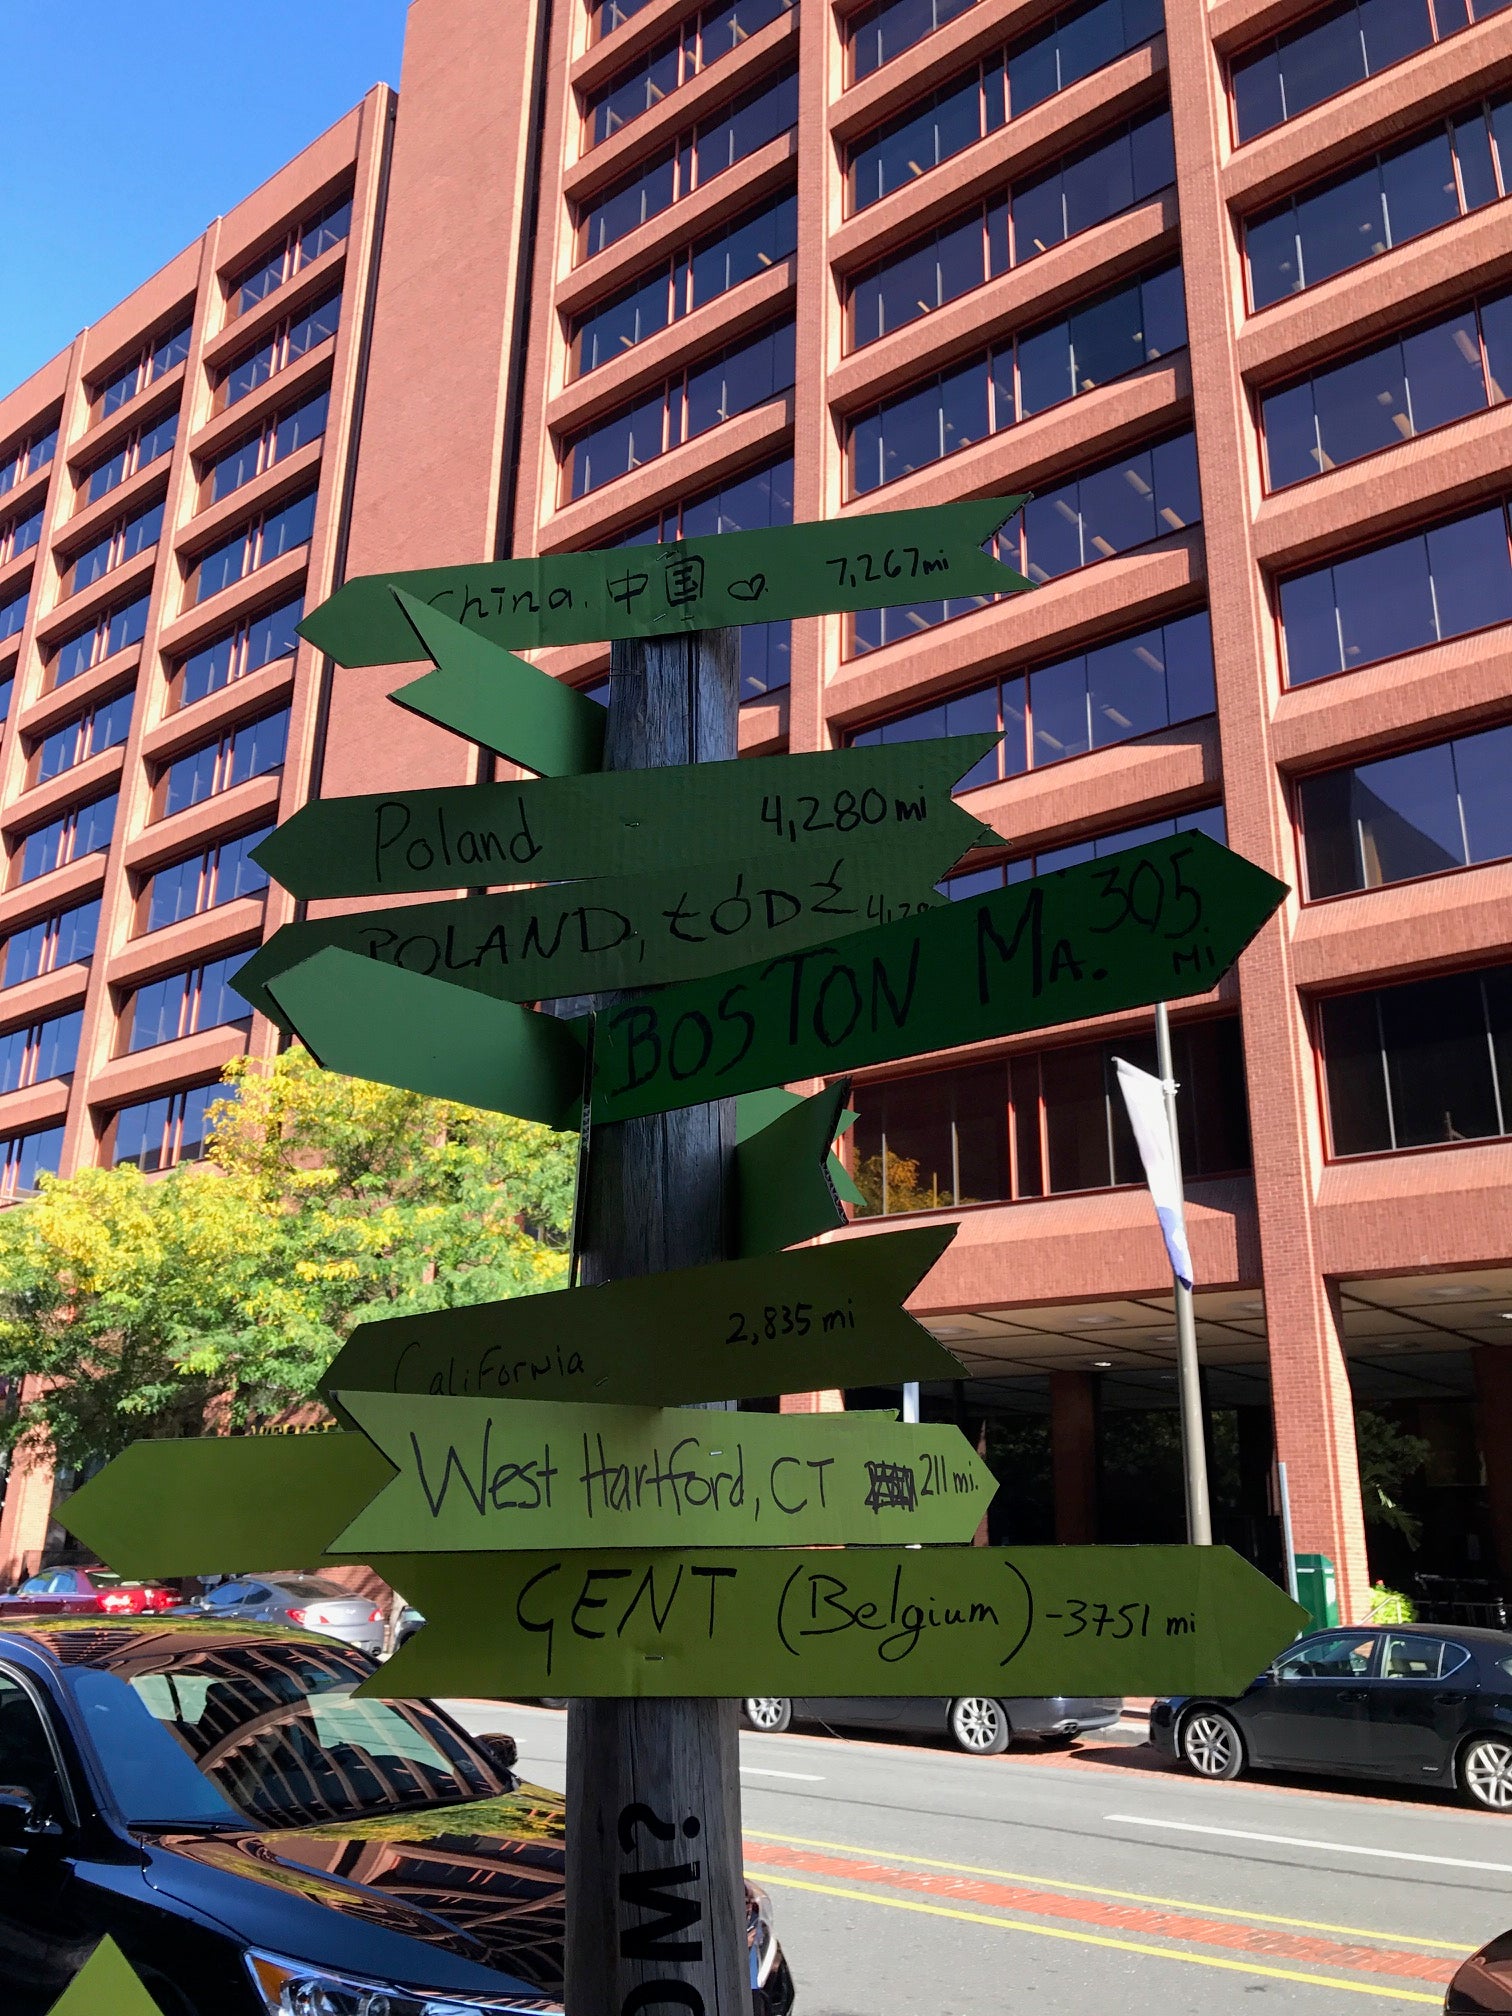
[[[562,1712],[452,1706],[560,1790]],[[798,2016],[1441,2008],[1460,1958],[1512,1927],[1512,1816],[1322,1780],[1202,1784],[1131,1724],[1002,1758],[744,1734],[742,1784]]]

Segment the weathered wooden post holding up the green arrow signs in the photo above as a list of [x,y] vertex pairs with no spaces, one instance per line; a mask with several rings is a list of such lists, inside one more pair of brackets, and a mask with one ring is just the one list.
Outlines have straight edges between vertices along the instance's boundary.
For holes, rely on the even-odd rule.
[[[605,770],[736,756],[738,631],[615,643],[611,671]],[[698,835],[687,841],[696,851]],[[585,1286],[730,1258],[734,1129],[732,1099],[593,1129],[577,1238]],[[566,2006],[750,2016],[734,1702],[571,1704]]]

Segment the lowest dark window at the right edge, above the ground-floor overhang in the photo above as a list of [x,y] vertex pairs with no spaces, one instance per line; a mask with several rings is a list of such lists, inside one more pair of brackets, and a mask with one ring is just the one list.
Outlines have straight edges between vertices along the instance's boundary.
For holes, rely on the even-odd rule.
[[1512,974],[1445,974],[1320,1002],[1335,1155],[1508,1131]]

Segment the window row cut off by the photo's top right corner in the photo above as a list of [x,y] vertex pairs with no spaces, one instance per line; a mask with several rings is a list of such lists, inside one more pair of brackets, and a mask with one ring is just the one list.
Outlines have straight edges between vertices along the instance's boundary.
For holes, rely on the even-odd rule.
[[1240,141],[1296,119],[1312,105],[1441,42],[1508,0],[1343,0],[1308,14],[1236,58],[1234,135]]

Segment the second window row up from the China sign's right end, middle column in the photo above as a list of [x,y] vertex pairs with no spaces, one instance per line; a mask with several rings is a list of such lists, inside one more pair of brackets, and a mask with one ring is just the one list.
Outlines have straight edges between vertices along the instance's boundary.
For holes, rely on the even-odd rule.
[[943,308],[1173,181],[1169,111],[1131,121],[857,274],[847,290],[851,349]]

